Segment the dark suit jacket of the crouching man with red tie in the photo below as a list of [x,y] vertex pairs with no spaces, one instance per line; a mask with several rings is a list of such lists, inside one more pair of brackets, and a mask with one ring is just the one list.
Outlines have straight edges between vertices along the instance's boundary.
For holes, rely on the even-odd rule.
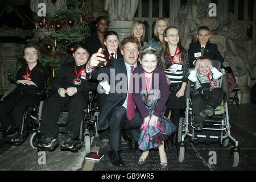
[[[98,122],[98,130],[105,130],[109,127],[108,115],[110,111],[116,106],[122,106],[127,96],[128,82],[125,61],[123,59],[110,59],[105,67],[96,68],[91,78],[97,79],[100,73],[108,75],[110,85],[110,92],[105,98],[103,108],[101,109],[100,121]],[[120,73],[123,73],[123,77],[117,79],[116,76]],[[123,78],[125,79],[123,80]],[[123,85],[121,84],[122,80]],[[117,93],[116,86],[123,89],[123,92]],[[114,93],[112,93],[112,89],[114,89]]]

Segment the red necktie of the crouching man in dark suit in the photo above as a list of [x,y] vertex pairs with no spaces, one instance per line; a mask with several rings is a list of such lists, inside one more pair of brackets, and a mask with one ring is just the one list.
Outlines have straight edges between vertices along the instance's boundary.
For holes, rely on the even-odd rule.
[[131,66],[131,74],[130,74],[130,81],[129,81],[129,91],[128,91],[128,100],[127,100],[127,119],[131,121],[135,115],[135,104],[133,101],[132,96],[132,88],[133,88],[133,66]]

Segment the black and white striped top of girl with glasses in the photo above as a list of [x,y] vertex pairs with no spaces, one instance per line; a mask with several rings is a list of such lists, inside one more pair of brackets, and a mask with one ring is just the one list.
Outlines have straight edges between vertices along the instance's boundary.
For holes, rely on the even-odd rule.
[[[172,61],[170,59],[169,53],[166,52],[164,54],[164,59],[166,60],[166,70],[164,71],[166,75],[170,78],[171,84],[176,84],[179,82],[188,82],[188,75],[189,75],[189,61],[188,61],[188,52],[184,49],[183,52],[183,65],[182,68],[177,70],[175,73],[170,72],[170,67],[172,65]],[[172,56],[172,59],[174,57]],[[174,63],[176,64],[176,63]],[[161,60],[161,52],[158,56],[158,66],[163,68],[163,63]]]

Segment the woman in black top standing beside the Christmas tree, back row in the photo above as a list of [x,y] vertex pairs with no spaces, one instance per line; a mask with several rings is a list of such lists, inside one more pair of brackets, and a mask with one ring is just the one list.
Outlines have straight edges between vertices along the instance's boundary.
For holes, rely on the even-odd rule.
[[97,32],[88,36],[85,40],[85,45],[88,47],[88,53],[90,55],[96,53],[99,48],[104,48],[104,36],[108,29],[108,19],[105,16],[98,16],[96,27]]

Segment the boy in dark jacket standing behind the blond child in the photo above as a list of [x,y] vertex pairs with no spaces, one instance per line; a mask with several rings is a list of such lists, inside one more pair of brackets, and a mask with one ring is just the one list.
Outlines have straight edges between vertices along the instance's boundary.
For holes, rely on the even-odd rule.
[[196,37],[199,41],[191,43],[188,49],[190,64],[195,64],[195,61],[203,56],[209,57],[211,60],[219,60],[223,63],[224,58],[218,51],[217,45],[208,42],[210,39],[210,30],[208,27],[199,27]]

